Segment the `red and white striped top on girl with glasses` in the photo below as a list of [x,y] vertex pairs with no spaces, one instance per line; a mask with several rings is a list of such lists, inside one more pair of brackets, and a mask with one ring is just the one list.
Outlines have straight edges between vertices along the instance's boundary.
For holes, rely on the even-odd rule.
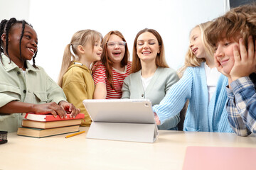
[[93,80],[95,81],[95,85],[98,83],[106,84],[106,87],[107,87],[106,99],[121,98],[122,84],[124,83],[124,78],[129,76],[130,74],[132,62],[128,62],[128,64],[125,66],[124,72],[120,72],[119,70],[112,68],[113,85],[116,91],[114,91],[114,89],[112,89],[110,84],[107,82],[105,65],[103,65],[102,62],[97,62],[96,66],[97,68],[92,74]]

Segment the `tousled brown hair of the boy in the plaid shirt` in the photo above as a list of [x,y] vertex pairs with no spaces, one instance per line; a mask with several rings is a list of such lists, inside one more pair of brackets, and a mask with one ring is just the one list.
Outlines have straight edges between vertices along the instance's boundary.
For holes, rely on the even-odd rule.
[[238,6],[232,8],[225,15],[216,18],[206,29],[206,39],[210,46],[215,49],[215,45],[220,40],[227,38],[238,42],[242,38],[247,47],[247,40],[252,35],[253,42],[256,39],[256,4]]

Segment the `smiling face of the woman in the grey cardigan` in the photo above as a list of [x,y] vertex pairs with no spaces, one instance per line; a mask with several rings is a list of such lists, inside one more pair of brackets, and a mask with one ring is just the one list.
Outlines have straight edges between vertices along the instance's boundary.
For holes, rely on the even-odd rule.
[[156,36],[149,32],[139,35],[136,50],[141,61],[155,61],[157,54],[160,52],[160,46]]

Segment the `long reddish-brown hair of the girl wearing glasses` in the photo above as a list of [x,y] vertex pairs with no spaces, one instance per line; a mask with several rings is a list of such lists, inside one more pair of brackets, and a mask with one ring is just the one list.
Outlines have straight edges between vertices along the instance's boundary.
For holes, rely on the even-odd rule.
[[[125,42],[126,42],[126,40],[124,39],[124,35],[122,35],[122,33],[120,33],[118,30],[111,30],[109,33],[107,33],[107,35],[105,35],[105,37],[103,38],[103,42],[102,42],[103,50],[102,50],[102,56],[101,56],[100,62],[102,62],[102,64],[106,67],[107,81],[109,82],[111,88],[114,89],[113,75],[112,75],[113,63],[110,60],[110,57],[107,55],[107,42],[110,40],[110,35],[117,35],[117,36],[119,36],[119,38],[122,38],[122,40]],[[128,46],[126,43],[124,57],[121,61],[122,67],[126,66],[128,64],[128,61],[129,61],[129,50],[128,50]],[[92,72],[95,72],[95,70],[97,69],[97,66],[98,65],[96,62],[95,67],[93,67],[93,69],[92,69]]]

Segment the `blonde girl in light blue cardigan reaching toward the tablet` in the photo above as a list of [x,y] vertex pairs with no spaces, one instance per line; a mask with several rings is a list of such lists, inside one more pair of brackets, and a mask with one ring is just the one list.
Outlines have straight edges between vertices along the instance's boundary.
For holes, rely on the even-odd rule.
[[185,66],[181,69],[183,76],[153,108],[156,123],[166,130],[176,126],[174,117],[188,101],[183,130],[233,132],[225,111],[228,79],[215,68],[213,51],[205,40],[204,30],[210,23],[201,23],[191,30]]

